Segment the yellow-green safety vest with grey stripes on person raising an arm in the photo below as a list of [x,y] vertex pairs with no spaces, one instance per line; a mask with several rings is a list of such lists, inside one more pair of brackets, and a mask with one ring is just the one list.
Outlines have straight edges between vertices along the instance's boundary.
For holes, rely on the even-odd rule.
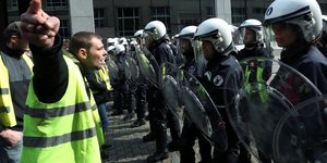
[[[69,67],[65,95],[43,103],[29,84],[24,115],[22,163],[100,163],[99,115],[85,91],[80,68],[64,57]],[[98,120],[97,120],[98,118]]]

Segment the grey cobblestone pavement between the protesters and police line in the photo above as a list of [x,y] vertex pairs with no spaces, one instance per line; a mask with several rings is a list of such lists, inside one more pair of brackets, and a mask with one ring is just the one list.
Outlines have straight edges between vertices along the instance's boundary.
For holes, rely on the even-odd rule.
[[[156,151],[155,141],[142,141],[142,137],[149,131],[148,122],[146,122],[146,125],[130,128],[134,120],[123,121],[123,116],[109,116],[110,122],[106,139],[113,146],[113,149],[108,151],[111,160],[104,163],[146,163],[146,158]],[[198,158],[198,149],[196,147],[195,151]],[[179,152],[169,152],[169,159],[161,163],[179,162]]]

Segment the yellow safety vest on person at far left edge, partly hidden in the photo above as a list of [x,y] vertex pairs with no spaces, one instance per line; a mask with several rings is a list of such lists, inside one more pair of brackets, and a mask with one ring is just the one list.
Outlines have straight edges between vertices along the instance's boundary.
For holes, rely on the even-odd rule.
[[[33,67],[33,62],[31,58],[24,53],[23,60],[27,63],[31,72]],[[15,126],[16,118],[15,112],[13,109],[13,103],[10,93],[10,85],[9,85],[9,74],[7,66],[4,65],[2,58],[0,55],[0,124],[4,127],[13,127]]]

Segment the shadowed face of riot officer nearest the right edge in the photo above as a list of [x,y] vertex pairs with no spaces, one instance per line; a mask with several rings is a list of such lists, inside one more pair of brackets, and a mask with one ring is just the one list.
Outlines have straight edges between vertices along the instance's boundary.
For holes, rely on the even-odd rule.
[[288,48],[296,42],[296,30],[290,24],[274,24],[275,40],[279,47]]

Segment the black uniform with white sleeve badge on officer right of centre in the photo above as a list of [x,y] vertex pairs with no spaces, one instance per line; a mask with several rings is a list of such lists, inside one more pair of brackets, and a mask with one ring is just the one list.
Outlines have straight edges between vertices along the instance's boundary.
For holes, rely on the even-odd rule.
[[239,159],[239,139],[235,135],[232,126],[229,123],[226,106],[225,106],[225,79],[227,74],[231,72],[233,74],[233,80],[239,85],[239,88],[242,85],[242,68],[234,58],[237,51],[230,47],[231,50],[228,50],[226,53],[228,55],[216,54],[216,58],[209,60],[205,70],[204,77],[202,79],[203,86],[208,91],[213,101],[217,105],[219,113],[222,116],[222,120],[226,123],[226,130],[228,136],[228,149],[226,151],[220,151],[218,148],[214,148],[214,162],[223,162],[223,163],[237,163]]

